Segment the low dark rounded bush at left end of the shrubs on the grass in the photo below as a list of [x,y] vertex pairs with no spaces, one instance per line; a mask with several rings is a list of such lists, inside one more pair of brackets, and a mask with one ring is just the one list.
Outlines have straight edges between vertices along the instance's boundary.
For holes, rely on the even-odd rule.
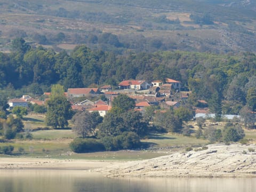
[[77,138],[74,139],[70,144],[69,147],[75,153],[90,153],[95,151],[104,151],[105,147],[99,140],[97,139],[82,139]]

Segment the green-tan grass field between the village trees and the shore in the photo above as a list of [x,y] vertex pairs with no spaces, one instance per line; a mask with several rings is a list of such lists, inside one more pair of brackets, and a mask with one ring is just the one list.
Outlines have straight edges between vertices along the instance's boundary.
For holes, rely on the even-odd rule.
[[[44,116],[39,114],[29,114],[25,117],[25,127],[30,126],[31,130],[37,127],[46,127]],[[216,125],[221,129],[222,124]],[[138,159],[149,159],[158,156],[168,155],[176,151],[185,150],[187,147],[197,148],[204,146],[209,141],[196,139],[194,136],[185,137],[182,134],[150,134],[147,139],[141,140],[142,149],[102,151],[97,153],[77,154],[69,148],[69,143],[76,137],[70,130],[39,130],[32,131],[33,139],[19,140],[13,139],[9,142],[0,143],[0,147],[12,145],[13,155],[10,157],[38,157],[38,158],[65,158],[65,159],[89,159],[89,160],[116,160],[133,161]],[[256,142],[256,130],[245,130],[245,138],[250,142]],[[22,153],[19,150],[22,148]],[[1,154],[0,157],[7,155]]]

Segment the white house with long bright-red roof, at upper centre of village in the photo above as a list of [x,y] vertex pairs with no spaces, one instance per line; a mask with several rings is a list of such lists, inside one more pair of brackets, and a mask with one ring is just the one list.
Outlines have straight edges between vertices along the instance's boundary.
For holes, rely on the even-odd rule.
[[142,80],[125,80],[119,83],[119,89],[147,90],[150,84]]

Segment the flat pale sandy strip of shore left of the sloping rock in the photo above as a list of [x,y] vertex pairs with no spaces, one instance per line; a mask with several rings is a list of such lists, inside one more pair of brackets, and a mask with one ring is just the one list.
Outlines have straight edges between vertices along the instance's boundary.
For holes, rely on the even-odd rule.
[[0,158],[0,169],[93,170],[113,164],[111,161],[82,159]]

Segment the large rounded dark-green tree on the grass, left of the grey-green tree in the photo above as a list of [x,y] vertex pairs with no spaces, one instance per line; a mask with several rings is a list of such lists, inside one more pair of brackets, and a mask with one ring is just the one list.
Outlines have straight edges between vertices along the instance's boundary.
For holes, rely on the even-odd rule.
[[46,123],[54,129],[68,125],[68,120],[73,116],[71,104],[64,96],[56,96],[46,102]]

